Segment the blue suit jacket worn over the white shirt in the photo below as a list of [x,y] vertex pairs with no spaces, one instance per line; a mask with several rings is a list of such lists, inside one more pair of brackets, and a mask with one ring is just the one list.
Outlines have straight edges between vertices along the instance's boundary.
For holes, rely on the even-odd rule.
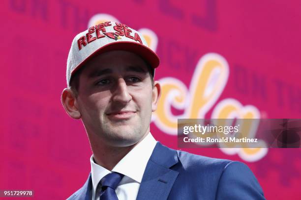
[[[68,200],[91,200],[91,174]],[[173,150],[157,142],[137,200],[264,200],[250,169],[241,162]]]

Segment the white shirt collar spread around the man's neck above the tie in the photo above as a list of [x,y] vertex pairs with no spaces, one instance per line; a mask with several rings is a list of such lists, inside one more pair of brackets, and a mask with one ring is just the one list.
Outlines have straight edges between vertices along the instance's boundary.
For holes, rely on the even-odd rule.
[[[145,168],[155,146],[156,140],[152,137],[151,133],[149,133],[117,163],[112,172],[118,172],[141,183]],[[93,191],[96,191],[96,187],[101,178],[111,172],[97,165],[93,160],[93,155],[90,157],[90,163]]]

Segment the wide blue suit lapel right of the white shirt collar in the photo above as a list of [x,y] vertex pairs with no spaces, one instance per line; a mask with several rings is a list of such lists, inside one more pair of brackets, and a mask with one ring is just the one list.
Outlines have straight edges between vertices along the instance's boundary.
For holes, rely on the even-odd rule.
[[157,142],[145,169],[137,200],[166,200],[179,175],[170,168],[178,162],[176,150]]

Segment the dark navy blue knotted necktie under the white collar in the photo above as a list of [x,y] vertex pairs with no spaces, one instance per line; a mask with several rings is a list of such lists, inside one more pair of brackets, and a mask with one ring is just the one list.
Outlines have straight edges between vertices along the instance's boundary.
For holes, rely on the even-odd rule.
[[101,192],[99,200],[118,200],[115,189],[117,188],[123,175],[117,172],[105,175],[101,180]]

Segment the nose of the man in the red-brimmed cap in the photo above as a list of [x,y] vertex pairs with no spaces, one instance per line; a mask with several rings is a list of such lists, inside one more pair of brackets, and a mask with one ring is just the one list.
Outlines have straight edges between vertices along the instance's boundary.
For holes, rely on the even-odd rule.
[[130,100],[132,100],[132,96],[129,94],[126,82],[123,78],[119,78],[115,87],[113,101],[126,104]]

